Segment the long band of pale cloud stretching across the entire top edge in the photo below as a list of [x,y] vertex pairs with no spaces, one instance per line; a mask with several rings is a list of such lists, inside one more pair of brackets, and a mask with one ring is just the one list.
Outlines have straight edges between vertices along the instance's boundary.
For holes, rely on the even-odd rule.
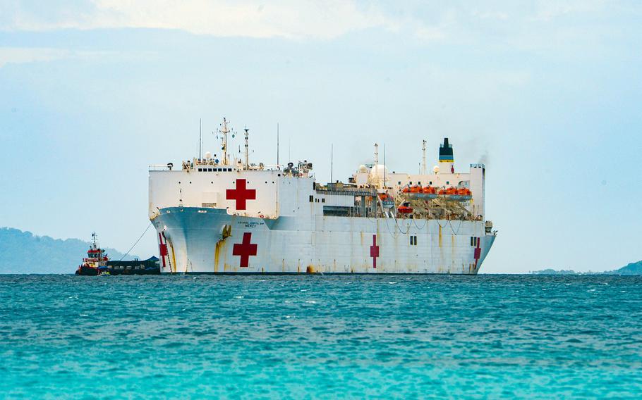
[[[629,9],[630,8],[630,9]],[[453,0],[446,5],[371,0],[0,0],[0,30],[158,28],[217,37],[334,39],[378,29],[401,40],[490,43],[509,49],[550,49],[593,43],[639,6],[603,0]],[[605,21],[595,24],[596,18]]]

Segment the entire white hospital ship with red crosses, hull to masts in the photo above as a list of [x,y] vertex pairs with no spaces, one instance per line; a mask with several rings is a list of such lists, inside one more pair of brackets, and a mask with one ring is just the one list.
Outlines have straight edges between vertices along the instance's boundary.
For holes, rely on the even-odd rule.
[[150,220],[163,273],[476,274],[495,240],[485,219],[485,166],[454,170],[444,139],[439,165],[419,173],[360,165],[348,182],[320,185],[308,161],[250,163],[228,151],[181,168],[150,167]]

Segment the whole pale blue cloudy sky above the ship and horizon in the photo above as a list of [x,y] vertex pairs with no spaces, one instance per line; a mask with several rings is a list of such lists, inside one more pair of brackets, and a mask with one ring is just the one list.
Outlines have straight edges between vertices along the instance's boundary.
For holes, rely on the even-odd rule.
[[278,122],[322,182],[331,143],[345,179],[375,141],[415,171],[449,137],[457,168],[487,164],[483,272],[642,258],[638,1],[53,3],[0,3],[0,226],[126,251],[147,165],[226,116],[267,163]]

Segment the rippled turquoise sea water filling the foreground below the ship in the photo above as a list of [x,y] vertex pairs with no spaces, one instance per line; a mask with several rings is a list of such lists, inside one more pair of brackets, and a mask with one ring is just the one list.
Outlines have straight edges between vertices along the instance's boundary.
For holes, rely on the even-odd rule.
[[642,277],[0,275],[1,397],[642,396]]

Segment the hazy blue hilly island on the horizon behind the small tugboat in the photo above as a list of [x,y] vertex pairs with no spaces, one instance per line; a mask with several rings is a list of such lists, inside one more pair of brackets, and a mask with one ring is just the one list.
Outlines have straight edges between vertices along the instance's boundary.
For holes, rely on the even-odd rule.
[[[80,239],[53,239],[0,227],[0,273],[71,274],[87,256],[89,246],[89,242]],[[119,260],[123,256],[115,249],[105,250],[111,259]]]

